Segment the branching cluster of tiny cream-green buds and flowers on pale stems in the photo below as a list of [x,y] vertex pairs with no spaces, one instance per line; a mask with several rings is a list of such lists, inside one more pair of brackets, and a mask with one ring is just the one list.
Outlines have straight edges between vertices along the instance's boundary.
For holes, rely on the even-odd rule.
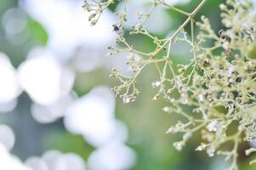
[[[114,2],[98,3],[96,11],[100,13],[96,15],[102,12],[100,4],[110,3]],[[183,134],[174,147],[181,150],[193,134],[199,132],[202,144],[196,150],[206,150],[208,156],[225,156],[225,160],[231,161],[229,170],[236,170],[239,144],[256,138],[256,14],[251,3],[245,0],[227,0],[219,5],[225,28],[216,33],[206,17],[202,16],[200,22],[195,20],[195,15],[205,3],[207,0],[202,0],[191,13],[187,13],[164,0],[151,0],[150,11],[138,13],[138,21],[129,34],[150,37],[156,48],[151,52],[140,51],[118,33],[118,46],[110,48],[111,54],[129,53],[128,65],[134,75],[124,77],[114,69],[111,77],[116,78],[119,85],[113,89],[124,103],[134,101],[139,94],[136,80],[140,72],[147,65],[155,65],[159,77],[152,82],[152,87],[159,90],[152,99],[162,97],[169,104],[163,111],[184,117],[167,131]],[[184,14],[187,19],[170,37],[156,37],[144,26],[156,7],[169,8]],[[117,16],[120,20],[115,26],[122,29],[123,22],[128,20],[126,1]],[[185,31],[188,24],[191,25],[191,35]],[[198,35],[195,35],[196,28],[200,30]],[[209,41],[213,44],[209,45]],[[187,42],[193,56],[189,64],[175,65],[178,71],[174,69],[170,53],[176,42]],[[224,147],[226,143],[232,147]],[[246,155],[254,151],[253,148],[248,149]]]

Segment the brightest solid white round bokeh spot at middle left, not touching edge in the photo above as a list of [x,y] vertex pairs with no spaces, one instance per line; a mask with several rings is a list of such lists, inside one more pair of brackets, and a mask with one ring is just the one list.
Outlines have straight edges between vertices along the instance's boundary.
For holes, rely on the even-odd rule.
[[39,104],[59,97],[61,68],[52,56],[28,59],[19,68],[21,86]]

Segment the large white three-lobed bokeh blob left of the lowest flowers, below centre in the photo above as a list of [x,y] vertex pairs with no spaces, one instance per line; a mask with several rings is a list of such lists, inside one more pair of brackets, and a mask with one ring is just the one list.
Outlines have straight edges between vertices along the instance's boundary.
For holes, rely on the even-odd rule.
[[71,133],[83,134],[90,144],[99,146],[116,133],[114,111],[115,96],[111,89],[97,87],[70,105],[64,118],[65,127]]

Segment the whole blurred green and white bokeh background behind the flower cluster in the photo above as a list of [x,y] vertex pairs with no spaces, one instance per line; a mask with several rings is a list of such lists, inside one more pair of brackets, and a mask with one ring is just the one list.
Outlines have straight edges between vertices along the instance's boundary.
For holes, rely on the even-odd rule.
[[[148,0],[128,1],[129,42],[145,51],[146,37],[126,33]],[[204,14],[217,32],[222,28],[219,4],[209,0]],[[0,169],[2,170],[220,170],[222,157],[194,151],[200,136],[184,150],[174,150],[179,136],[166,134],[177,117],[162,111],[165,102],[151,101],[157,74],[147,68],[139,77],[141,94],[123,105],[115,98],[111,68],[128,71],[127,55],[107,57],[115,44],[111,5],[92,27],[82,0],[1,0],[0,2]],[[199,0],[168,0],[190,12]],[[157,8],[146,28],[159,37],[171,34],[185,16]],[[187,30],[189,31],[189,29]],[[175,63],[191,59],[189,45],[175,44]],[[241,169],[248,160],[239,158]]]

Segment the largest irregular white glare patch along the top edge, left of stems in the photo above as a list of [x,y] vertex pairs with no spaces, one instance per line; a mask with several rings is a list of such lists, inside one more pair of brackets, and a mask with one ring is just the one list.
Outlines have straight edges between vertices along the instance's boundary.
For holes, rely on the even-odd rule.
[[22,3],[26,11],[43,24],[49,34],[48,47],[63,57],[82,43],[108,44],[115,40],[112,32],[114,14],[105,10],[99,23],[90,26],[88,14],[82,8],[82,1],[34,1]]

